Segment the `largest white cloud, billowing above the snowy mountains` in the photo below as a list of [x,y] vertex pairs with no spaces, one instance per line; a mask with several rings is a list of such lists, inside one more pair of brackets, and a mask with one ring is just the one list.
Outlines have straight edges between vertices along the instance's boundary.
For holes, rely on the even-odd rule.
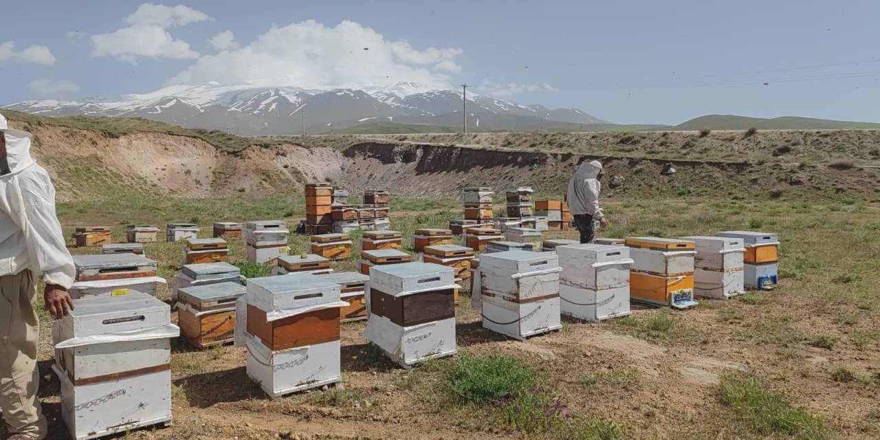
[[[459,48],[417,50],[406,41],[385,40],[352,21],[334,27],[314,20],[272,26],[253,43],[203,55],[170,80],[172,84],[384,85],[400,81],[447,87],[443,71],[461,70]],[[440,71],[443,70],[443,71]]]

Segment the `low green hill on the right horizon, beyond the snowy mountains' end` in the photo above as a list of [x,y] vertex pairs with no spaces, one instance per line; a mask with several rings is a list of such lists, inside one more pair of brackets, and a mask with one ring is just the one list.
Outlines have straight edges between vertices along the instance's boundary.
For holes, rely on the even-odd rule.
[[[853,122],[833,121],[829,119],[802,118],[799,116],[781,116],[779,118],[750,118],[736,114],[707,114],[699,118],[693,118],[671,128],[671,130],[700,130],[709,128],[713,130],[744,130],[748,128],[763,130],[808,130],[808,129],[845,129],[845,128],[874,128],[880,129],[880,123],[876,122]],[[656,129],[656,128],[655,128]]]

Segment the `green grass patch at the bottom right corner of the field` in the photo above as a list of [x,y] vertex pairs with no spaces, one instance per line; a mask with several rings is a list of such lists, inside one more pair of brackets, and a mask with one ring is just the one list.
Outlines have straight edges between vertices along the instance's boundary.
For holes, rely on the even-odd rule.
[[793,407],[787,396],[769,389],[758,378],[724,377],[719,389],[724,405],[757,434],[803,440],[830,438],[821,417]]

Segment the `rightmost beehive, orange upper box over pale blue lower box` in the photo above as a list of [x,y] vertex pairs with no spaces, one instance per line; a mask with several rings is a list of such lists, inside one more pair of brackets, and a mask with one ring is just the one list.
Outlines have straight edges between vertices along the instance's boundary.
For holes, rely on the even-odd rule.
[[748,289],[773,289],[779,281],[779,236],[767,232],[725,231],[719,237],[742,238],[744,282]]

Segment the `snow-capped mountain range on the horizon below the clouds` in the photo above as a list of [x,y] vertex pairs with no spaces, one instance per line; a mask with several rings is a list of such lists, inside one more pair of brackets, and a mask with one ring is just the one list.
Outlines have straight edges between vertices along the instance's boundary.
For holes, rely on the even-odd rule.
[[[30,114],[120,116],[163,121],[184,127],[219,129],[240,135],[291,135],[324,132],[370,121],[436,124],[439,116],[460,114],[461,91],[430,90],[415,83],[385,87],[349,86],[303,89],[270,85],[172,85],[156,92],[77,101],[33,100],[4,106]],[[573,108],[524,106],[505,99],[467,93],[467,113],[487,120],[520,116],[576,124],[605,121]],[[439,118],[443,119],[443,118]]]

